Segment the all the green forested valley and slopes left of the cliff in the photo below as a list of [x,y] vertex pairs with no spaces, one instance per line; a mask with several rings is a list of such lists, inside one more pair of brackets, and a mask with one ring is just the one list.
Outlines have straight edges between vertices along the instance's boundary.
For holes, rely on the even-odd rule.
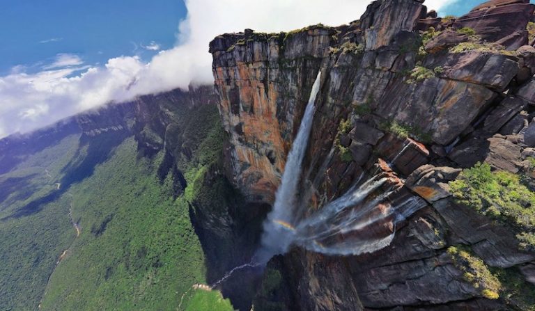
[[[213,112],[208,113],[210,121],[217,117]],[[31,156],[9,173],[24,175],[16,186],[33,195],[21,200],[15,191],[6,199],[13,199],[12,204],[0,205],[0,218],[54,191],[61,196],[38,205],[35,214],[0,222],[2,237],[8,237],[0,241],[0,310],[36,310],[41,297],[41,310],[232,310],[219,292],[192,289],[206,282],[206,268],[188,202],[203,194],[194,188],[222,148],[222,129],[218,118],[213,119],[211,126],[189,122],[189,131],[197,130],[195,135],[185,133],[194,153],[190,161],[180,161],[189,186],[176,200],[171,174],[163,183],[157,178],[162,154],[153,160],[139,157],[133,138],[111,150],[89,177],[69,188],[61,186],[61,191],[55,182],[88,156],[78,137]],[[45,175],[47,166],[52,178]],[[6,179],[0,176],[0,187],[13,184]],[[82,228],[79,237],[68,216],[71,204]],[[65,249],[66,257],[54,270]]]

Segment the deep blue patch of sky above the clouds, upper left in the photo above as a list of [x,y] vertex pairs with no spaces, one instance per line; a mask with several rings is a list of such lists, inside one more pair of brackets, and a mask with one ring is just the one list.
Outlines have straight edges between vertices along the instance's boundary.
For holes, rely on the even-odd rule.
[[[1,0],[0,75],[15,65],[31,67],[56,54],[77,54],[86,63],[175,45],[187,11],[181,0]],[[151,45],[151,43],[154,43]]]

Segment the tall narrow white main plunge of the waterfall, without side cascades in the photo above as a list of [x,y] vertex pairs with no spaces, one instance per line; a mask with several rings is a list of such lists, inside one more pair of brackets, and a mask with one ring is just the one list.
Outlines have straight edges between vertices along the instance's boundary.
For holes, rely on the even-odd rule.
[[[301,164],[304,158],[304,152],[307,150],[312,120],[314,115],[314,102],[316,95],[320,90],[321,70],[314,81],[310,92],[309,102],[304,111],[304,115],[297,131],[297,136],[293,141],[292,148],[288,154],[284,173],[282,175],[281,185],[277,189],[275,202],[272,212],[267,215],[263,224],[264,233],[262,236],[262,250],[258,253],[258,260],[267,262],[267,260],[279,253],[285,253],[288,246],[293,241],[291,237],[294,221],[295,193],[300,181]],[[281,225],[284,224],[284,225]]]

